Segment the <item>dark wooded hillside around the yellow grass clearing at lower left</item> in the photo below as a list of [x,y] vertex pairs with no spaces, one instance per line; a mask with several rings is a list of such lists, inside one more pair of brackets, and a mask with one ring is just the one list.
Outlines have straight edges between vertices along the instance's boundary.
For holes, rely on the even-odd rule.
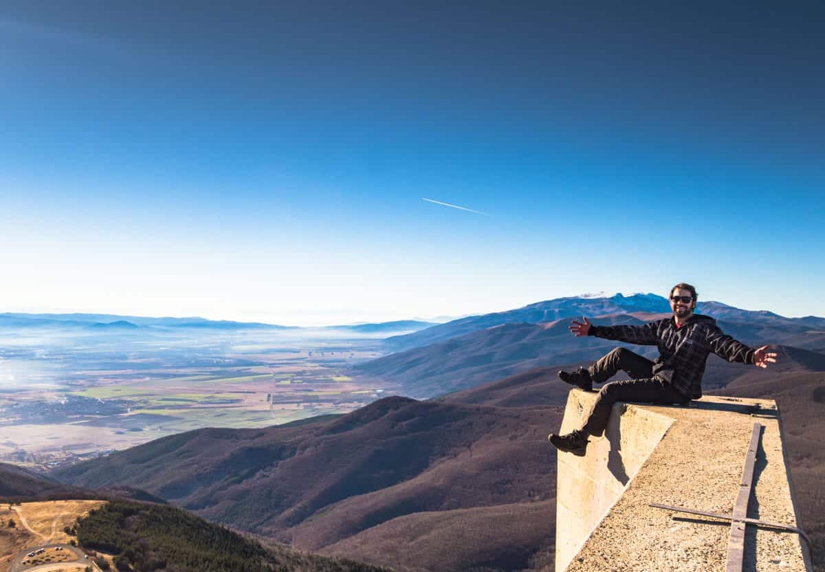
[[[51,500],[108,501],[87,517],[79,518],[72,529],[78,545],[86,551],[115,555],[118,570],[389,572],[354,560],[296,551],[275,542],[263,546],[260,541],[206,522],[181,508],[167,506],[163,499],[125,485],[81,489],[21,467],[0,464],[0,499],[10,504],[40,501],[40,511],[46,511],[47,501]],[[2,524],[6,526],[5,520]],[[8,542],[0,544],[14,546]]]

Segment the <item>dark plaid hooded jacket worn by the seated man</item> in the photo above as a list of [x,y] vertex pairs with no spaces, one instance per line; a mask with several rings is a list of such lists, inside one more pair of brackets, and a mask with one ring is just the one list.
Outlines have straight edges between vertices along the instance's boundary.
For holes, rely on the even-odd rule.
[[755,350],[722,333],[716,320],[693,314],[676,329],[673,318],[641,326],[590,326],[588,335],[620,342],[657,346],[659,357],[653,362],[653,376],[669,381],[682,395],[702,396],[702,375],[708,354],[714,352],[728,362],[753,363]]

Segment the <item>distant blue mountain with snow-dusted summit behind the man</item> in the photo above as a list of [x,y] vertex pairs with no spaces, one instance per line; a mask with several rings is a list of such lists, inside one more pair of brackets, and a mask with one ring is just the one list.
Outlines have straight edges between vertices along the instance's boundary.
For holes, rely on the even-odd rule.
[[[703,302],[699,311],[716,317],[725,333],[752,346],[772,343],[825,352],[825,327],[819,327],[825,326],[822,318],[784,318],[771,312],[739,310],[719,302]],[[407,349],[357,364],[353,369],[363,376],[398,384],[406,395],[425,399],[536,367],[592,362],[616,345],[656,357],[655,346],[575,338],[568,326],[571,319],[582,319],[582,316],[596,325],[610,325],[643,324],[670,315],[667,300],[654,294],[546,300],[517,310],[458,319],[388,338],[389,347]],[[553,316],[562,317],[548,320]],[[709,368],[717,362],[723,361],[709,357]],[[734,367],[741,370],[744,366]],[[730,375],[739,374],[726,370],[725,375],[727,380]]]

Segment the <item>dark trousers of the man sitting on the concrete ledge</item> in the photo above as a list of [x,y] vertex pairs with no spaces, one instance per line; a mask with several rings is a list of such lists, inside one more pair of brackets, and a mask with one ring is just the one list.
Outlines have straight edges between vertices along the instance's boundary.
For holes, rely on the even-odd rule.
[[647,357],[639,356],[625,347],[616,347],[594,363],[588,371],[593,383],[604,383],[615,376],[617,371],[625,371],[631,378],[602,385],[584,424],[584,430],[591,435],[604,433],[607,419],[610,417],[610,408],[616,401],[686,404],[691,400],[681,395],[669,382],[653,377],[653,362]]

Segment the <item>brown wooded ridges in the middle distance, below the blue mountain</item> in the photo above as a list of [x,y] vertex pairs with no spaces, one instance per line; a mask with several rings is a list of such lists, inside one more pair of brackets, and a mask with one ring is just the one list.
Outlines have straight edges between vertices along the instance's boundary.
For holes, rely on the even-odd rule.
[[[781,351],[773,371],[719,360],[719,391],[777,399],[804,524],[825,547],[825,376],[812,369],[825,356]],[[568,392],[555,370],[428,401],[389,397],[314,423],[183,433],[55,476],[141,483],[215,522],[399,571],[544,570],[556,481],[545,437]]]

